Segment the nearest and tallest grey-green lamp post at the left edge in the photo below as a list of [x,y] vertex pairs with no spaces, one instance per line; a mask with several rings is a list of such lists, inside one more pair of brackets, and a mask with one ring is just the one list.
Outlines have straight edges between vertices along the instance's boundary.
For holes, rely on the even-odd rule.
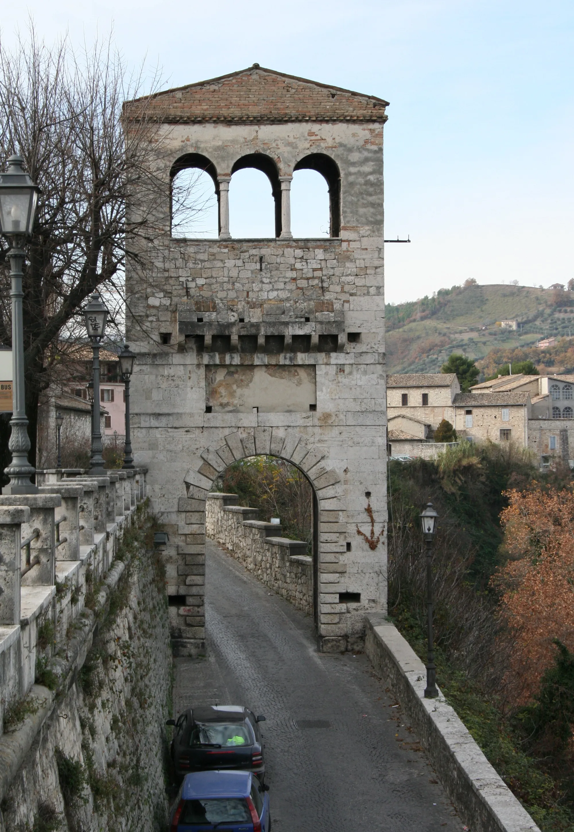
[[10,419],[10,441],[12,463],[4,469],[10,482],[2,489],[4,494],[35,494],[37,487],[30,482],[36,469],[28,462],[30,438],[26,418],[26,397],[24,391],[24,333],[22,323],[22,265],[24,240],[32,232],[34,215],[40,189],[24,172],[21,156],[10,156],[6,173],[0,174],[0,234],[7,237],[11,248],[10,279],[12,287],[12,379],[14,404]]

